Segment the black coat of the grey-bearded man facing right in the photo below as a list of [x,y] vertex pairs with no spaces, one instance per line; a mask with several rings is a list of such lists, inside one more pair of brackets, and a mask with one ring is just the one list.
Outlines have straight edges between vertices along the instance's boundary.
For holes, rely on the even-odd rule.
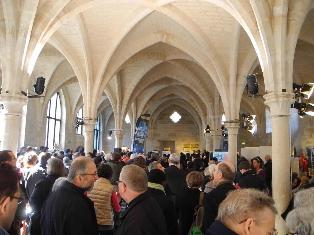
[[41,230],[45,235],[99,235],[94,202],[65,181],[44,203]]

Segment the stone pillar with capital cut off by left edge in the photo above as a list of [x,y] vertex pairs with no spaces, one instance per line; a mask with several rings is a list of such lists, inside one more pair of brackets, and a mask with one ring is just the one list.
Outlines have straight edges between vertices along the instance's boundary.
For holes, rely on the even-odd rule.
[[14,94],[13,96],[3,95],[0,97],[0,101],[3,103],[5,109],[5,126],[1,147],[3,150],[12,150],[16,154],[19,149],[19,130],[23,106],[27,105],[27,97],[19,94]]

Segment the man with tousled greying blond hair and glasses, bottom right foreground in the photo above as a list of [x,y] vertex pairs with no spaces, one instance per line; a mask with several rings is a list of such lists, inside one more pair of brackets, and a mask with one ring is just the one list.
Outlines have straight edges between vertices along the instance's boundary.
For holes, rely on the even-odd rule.
[[206,235],[277,235],[274,200],[256,189],[230,191]]

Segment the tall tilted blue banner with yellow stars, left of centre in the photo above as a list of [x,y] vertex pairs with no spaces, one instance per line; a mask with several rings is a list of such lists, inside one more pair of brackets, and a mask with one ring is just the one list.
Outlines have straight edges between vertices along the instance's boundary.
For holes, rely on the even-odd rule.
[[150,114],[143,114],[136,122],[133,153],[143,153],[149,118]]

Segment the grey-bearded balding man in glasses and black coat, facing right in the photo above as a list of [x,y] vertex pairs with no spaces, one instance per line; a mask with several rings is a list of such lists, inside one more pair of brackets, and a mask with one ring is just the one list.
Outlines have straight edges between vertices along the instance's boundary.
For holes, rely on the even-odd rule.
[[42,234],[98,235],[94,203],[90,191],[98,179],[96,165],[88,157],[76,158],[66,181],[53,191],[41,210]]

